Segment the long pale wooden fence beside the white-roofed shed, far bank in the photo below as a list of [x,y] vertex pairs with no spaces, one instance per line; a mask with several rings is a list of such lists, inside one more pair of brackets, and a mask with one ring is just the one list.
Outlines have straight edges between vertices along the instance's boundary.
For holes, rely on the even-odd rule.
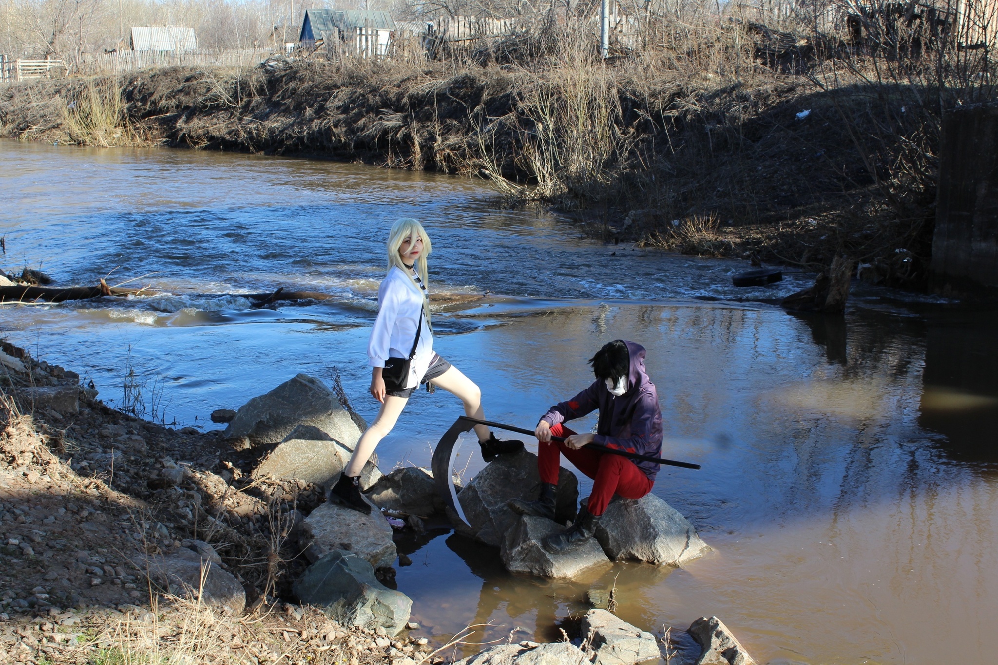
[[255,67],[272,54],[265,49],[225,51],[117,51],[84,54],[80,74],[120,74],[158,67]]

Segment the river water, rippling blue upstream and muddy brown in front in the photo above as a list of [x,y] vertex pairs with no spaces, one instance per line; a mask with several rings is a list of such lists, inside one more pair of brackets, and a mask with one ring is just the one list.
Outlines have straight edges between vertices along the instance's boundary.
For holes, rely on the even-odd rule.
[[[806,275],[735,289],[746,262],[603,245],[498,208],[480,182],[426,173],[0,142],[0,187],[4,268],[41,264],[60,284],[155,273],[140,280],[148,297],[3,306],[0,332],[167,422],[214,428],[213,409],[332,368],[373,417],[367,330],[402,215],[430,229],[435,289],[491,292],[436,314],[437,350],[482,387],[490,418],[532,427],[586,385],[600,344],[648,347],[663,455],[704,467],[664,469],[655,493],[714,551],[685,569],[620,563],[550,582],[506,573],[446,527],[402,536],[412,563],[398,588],[438,639],[470,623],[490,624],[479,641],[574,635],[586,591],[616,584],[626,620],[662,634],[715,614],[762,663],[994,662],[993,309],[860,289],[844,319],[792,316],[733,299],[778,297]],[[338,297],[250,310],[204,295],[277,286]],[[426,465],[458,413],[446,394],[417,394],[382,468]],[[481,469],[463,459],[466,477]]]

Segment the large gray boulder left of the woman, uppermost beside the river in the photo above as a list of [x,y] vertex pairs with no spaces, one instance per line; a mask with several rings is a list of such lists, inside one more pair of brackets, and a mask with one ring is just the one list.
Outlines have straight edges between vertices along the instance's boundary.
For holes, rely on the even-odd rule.
[[282,441],[298,425],[313,425],[351,451],[361,434],[335,393],[318,379],[298,374],[240,407],[224,436],[248,437],[253,446],[264,446]]

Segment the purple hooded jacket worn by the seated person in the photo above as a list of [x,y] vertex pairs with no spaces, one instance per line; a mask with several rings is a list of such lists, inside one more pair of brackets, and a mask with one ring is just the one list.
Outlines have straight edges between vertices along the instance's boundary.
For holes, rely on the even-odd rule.
[[[639,455],[661,457],[662,409],[659,407],[659,394],[655,390],[655,384],[645,371],[645,347],[635,342],[624,343],[631,355],[626,393],[615,397],[607,390],[606,382],[598,379],[568,402],[548,409],[541,420],[553,426],[582,418],[593,409],[599,409],[600,421],[596,427],[594,444]],[[637,461],[635,464],[648,480],[655,482],[659,465]]]

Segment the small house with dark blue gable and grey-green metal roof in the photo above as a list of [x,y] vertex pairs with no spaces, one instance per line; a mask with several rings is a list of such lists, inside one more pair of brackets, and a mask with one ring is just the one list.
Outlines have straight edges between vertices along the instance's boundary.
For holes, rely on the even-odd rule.
[[306,9],[298,41],[302,46],[330,45],[338,40],[362,58],[388,54],[395,21],[388,12],[364,9]]

